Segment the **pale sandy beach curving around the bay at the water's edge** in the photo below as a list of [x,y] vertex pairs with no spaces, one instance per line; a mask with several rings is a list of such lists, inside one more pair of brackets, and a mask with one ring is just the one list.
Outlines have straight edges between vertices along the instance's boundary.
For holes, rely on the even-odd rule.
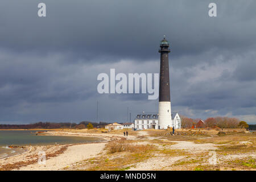
[[[102,138],[101,141],[89,143],[71,143],[71,144],[51,144],[42,146],[26,146],[26,151],[14,156],[7,156],[0,159],[0,171],[5,170],[61,170],[72,163],[85,160],[96,156],[102,152],[105,144],[109,141],[121,137],[118,134],[104,135],[104,134],[84,134],[84,133],[71,133],[66,131],[47,131],[39,135],[48,136],[69,136],[69,137],[96,137]],[[47,163],[56,165],[42,166],[38,164],[39,152],[46,152]],[[63,156],[61,156],[63,155]],[[61,159],[67,159],[61,160]],[[62,161],[62,162],[61,162]]]

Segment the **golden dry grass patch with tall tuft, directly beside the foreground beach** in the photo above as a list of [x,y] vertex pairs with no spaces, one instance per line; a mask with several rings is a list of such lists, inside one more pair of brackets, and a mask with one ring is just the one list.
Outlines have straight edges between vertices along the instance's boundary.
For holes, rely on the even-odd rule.
[[157,150],[152,144],[135,144],[131,140],[114,140],[105,146],[106,155],[84,160],[76,168],[89,171],[125,171],[135,163],[154,157]]

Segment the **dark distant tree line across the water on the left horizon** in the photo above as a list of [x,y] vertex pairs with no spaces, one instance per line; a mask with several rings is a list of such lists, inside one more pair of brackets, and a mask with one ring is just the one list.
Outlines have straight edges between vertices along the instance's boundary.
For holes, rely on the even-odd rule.
[[[89,125],[90,123],[90,125]],[[36,122],[27,125],[7,125],[3,124],[0,125],[0,129],[85,129],[85,128],[92,128],[92,127],[105,127],[108,125],[107,122],[90,122],[90,121],[82,121],[80,123],[55,123],[55,122]]]

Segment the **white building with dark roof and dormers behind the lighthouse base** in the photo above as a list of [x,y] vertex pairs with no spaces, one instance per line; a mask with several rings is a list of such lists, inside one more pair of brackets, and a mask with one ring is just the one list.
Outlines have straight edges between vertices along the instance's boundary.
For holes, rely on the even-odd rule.
[[[172,119],[169,127],[180,129],[181,119],[179,114],[176,112],[173,112],[171,116],[172,116]],[[137,130],[160,129],[159,115],[158,114],[138,114],[137,117],[134,119],[134,127]]]

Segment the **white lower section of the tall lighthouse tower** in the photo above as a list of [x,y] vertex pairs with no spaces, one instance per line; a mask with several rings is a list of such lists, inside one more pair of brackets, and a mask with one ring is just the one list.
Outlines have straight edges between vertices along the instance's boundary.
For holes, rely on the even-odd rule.
[[171,102],[159,102],[159,129],[167,129],[172,126]]

